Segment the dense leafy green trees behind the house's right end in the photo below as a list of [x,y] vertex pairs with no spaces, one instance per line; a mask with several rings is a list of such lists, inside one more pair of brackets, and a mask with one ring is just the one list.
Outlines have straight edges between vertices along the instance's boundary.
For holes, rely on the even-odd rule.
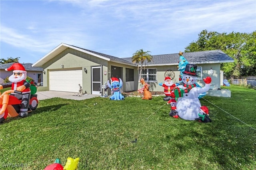
[[198,40],[191,42],[185,52],[220,49],[234,59],[234,63],[221,63],[226,75],[237,78],[255,75],[256,32],[227,34],[203,30],[198,36]]

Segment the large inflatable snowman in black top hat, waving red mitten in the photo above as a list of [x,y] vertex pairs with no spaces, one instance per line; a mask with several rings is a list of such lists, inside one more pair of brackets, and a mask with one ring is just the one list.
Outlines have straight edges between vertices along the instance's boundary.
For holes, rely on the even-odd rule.
[[208,91],[212,81],[211,77],[206,77],[204,79],[205,86],[202,88],[196,87],[196,69],[197,66],[195,64],[187,64],[185,71],[182,72],[182,85],[179,85],[172,93],[172,96],[177,101],[178,116],[188,121],[194,121],[199,117],[198,108],[201,107],[201,103],[198,99],[198,94]]

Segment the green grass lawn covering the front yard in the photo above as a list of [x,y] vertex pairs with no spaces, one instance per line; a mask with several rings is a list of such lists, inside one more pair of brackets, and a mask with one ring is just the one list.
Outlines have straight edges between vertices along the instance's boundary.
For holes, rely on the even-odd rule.
[[0,125],[0,169],[43,170],[79,157],[78,170],[255,170],[256,91],[224,88],[231,98],[200,99],[212,123],[170,117],[163,97],[39,101],[28,117]]

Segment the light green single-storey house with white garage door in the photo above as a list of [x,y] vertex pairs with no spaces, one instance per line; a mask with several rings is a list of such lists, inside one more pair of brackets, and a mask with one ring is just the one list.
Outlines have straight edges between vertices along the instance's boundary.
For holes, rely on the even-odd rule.
[[[183,53],[183,56],[189,63],[198,66],[198,84],[204,86],[202,79],[212,77],[213,90],[220,89],[220,63],[234,62],[221,50]],[[152,57],[153,61],[147,63],[142,71],[142,77],[150,84],[151,91],[164,91],[158,83],[164,82],[168,74],[172,74],[174,83],[178,82],[178,53]],[[122,79],[122,91],[125,92],[136,91],[141,86],[138,67],[131,62],[131,57],[118,58],[65,43],[58,45],[32,67],[44,69],[43,84],[50,91],[78,92],[80,84],[87,93],[101,95],[111,77]]]

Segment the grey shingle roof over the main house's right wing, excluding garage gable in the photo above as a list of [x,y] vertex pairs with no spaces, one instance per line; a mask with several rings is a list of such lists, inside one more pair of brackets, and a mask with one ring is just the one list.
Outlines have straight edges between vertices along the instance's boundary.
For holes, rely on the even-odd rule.
[[[198,51],[183,53],[183,57],[189,63],[192,64],[204,64],[204,63],[230,63],[234,62],[230,56],[221,50],[210,50],[210,51]],[[164,55],[152,55],[153,60],[150,63],[146,63],[146,66],[156,66],[156,65],[178,65],[180,60],[180,55],[176,54],[164,54]],[[123,58],[130,61],[132,57]]]

